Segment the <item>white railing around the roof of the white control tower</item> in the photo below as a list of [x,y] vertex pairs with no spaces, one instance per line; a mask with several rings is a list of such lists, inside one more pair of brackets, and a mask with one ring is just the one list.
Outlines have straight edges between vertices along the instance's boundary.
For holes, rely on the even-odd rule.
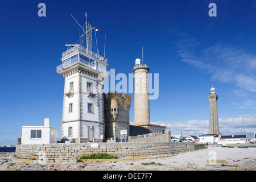
[[97,53],[92,52],[89,49],[86,49],[85,47],[82,47],[80,45],[76,45],[76,46],[74,46],[72,48],[69,48],[67,51],[62,53],[62,57],[66,57],[66,56],[68,56],[71,53],[76,52],[76,51],[84,52],[84,53],[86,53],[86,54],[88,54],[88,55],[90,55],[90,56],[92,56],[92,57],[94,57],[94,58],[104,62],[104,63],[107,63],[107,59],[106,58],[104,58],[104,57],[98,55]]

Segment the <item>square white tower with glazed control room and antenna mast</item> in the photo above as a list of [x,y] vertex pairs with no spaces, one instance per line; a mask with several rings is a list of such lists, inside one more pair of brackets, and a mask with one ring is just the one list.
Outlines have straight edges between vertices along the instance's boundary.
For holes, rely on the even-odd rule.
[[92,51],[92,31],[96,30],[87,23],[87,14],[85,17],[85,28],[79,24],[83,30],[80,44],[66,45],[56,71],[65,78],[61,138],[76,143],[100,142],[105,131],[103,85],[97,77],[109,75],[108,64]]

